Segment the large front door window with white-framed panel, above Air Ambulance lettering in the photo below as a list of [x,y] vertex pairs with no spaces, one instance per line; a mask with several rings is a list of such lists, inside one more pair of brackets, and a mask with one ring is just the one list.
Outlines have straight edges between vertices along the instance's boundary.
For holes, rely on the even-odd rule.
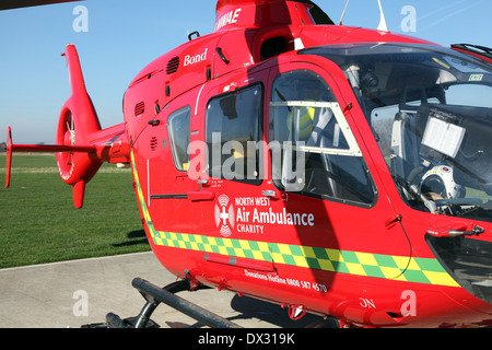
[[272,179],[286,191],[372,205],[375,189],[331,89],[317,73],[276,78],[270,101]]

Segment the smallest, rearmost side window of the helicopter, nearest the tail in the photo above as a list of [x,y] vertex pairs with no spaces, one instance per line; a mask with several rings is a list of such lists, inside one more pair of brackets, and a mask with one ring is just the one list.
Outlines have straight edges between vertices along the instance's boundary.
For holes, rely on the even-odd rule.
[[186,106],[172,113],[167,119],[174,165],[181,172],[188,171],[189,166],[188,144],[190,113],[190,107]]

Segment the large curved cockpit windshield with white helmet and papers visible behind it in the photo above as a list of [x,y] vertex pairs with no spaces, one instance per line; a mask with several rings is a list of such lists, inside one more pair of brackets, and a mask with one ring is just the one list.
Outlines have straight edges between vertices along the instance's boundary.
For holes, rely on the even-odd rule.
[[492,221],[492,66],[413,44],[308,48],[351,84],[403,200]]

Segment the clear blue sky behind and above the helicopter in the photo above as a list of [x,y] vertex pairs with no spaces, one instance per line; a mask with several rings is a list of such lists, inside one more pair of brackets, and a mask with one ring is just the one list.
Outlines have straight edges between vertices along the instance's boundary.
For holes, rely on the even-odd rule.
[[[338,22],[345,0],[315,0]],[[103,127],[122,121],[122,95],[149,62],[187,40],[187,33],[210,34],[214,0],[86,0],[0,12],[0,141],[12,126],[16,143],[52,143],[60,108],[70,96],[67,44],[78,48]],[[77,5],[87,9],[87,32],[75,32]],[[183,5],[180,5],[183,4]],[[412,36],[441,45],[472,43],[492,47],[490,0],[382,0],[391,32],[402,33],[415,10]],[[343,24],[376,28],[376,0],[351,0]]]

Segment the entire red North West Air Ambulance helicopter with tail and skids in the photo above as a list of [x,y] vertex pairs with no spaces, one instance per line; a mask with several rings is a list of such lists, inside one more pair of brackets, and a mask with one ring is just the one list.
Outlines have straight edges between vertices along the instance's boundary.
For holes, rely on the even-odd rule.
[[[49,1],[56,2],[56,1]],[[147,303],[233,323],[175,293],[230,290],[318,327],[492,324],[492,50],[336,25],[306,0],[219,0],[212,34],[147,66],[102,129],[75,47],[56,144],[81,208],[130,164],[152,250],[178,277]],[[477,98],[478,97],[478,98]],[[487,101],[489,100],[489,101]]]

